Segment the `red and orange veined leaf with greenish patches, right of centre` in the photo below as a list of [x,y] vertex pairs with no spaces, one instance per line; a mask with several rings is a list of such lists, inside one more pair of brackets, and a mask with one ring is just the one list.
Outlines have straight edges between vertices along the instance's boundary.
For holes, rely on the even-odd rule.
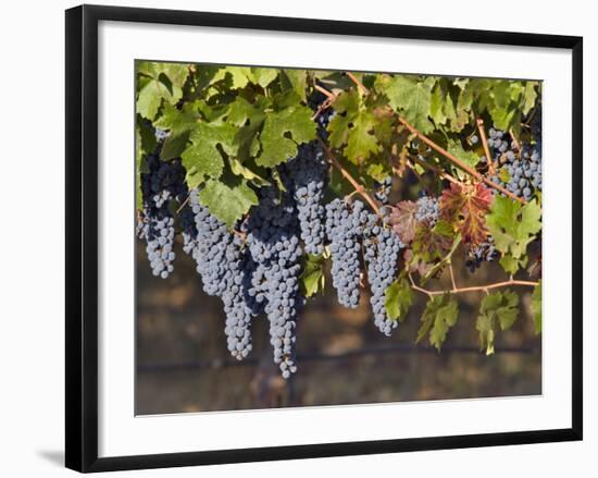
[[451,183],[440,197],[440,213],[461,233],[463,242],[479,244],[488,236],[486,215],[491,201],[493,194],[484,183]]

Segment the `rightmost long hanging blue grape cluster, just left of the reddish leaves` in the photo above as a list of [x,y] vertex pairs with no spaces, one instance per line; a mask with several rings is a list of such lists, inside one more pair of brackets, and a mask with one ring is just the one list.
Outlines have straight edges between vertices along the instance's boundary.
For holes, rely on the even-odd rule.
[[370,303],[374,312],[374,324],[389,336],[397,328],[398,321],[390,319],[386,314],[386,289],[395,280],[399,253],[403,245],[390,228],[384,223],[379,224],[378,219],[376,215],[369,215],[363,238],[364,258],[367,265],[367,282],[372,291]]

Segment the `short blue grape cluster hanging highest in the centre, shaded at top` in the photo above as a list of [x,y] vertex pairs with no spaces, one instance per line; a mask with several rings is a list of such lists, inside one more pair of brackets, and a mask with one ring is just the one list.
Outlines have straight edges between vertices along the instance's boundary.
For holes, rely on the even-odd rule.
[[286,164],[287,188],[294,194],[301,240],[308,254],[320,255],[324,250],[323,199],[327,170],[324,151],[315,142],[300,146],[298,155]]

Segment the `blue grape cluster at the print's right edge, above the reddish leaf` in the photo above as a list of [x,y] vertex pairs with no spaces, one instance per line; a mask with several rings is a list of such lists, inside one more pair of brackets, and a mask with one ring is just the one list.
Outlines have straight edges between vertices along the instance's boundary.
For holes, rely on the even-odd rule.
[[[530,200],[534,191],[541,191],[541,156],[539,143],[536,145],[509,142],[509,136],[494,127],[489,130],[488,147],[494,151],[494,160],[503,164],[498,174],[490,177],[518,197]],[[504,171],[508,181],[503,182]]]

